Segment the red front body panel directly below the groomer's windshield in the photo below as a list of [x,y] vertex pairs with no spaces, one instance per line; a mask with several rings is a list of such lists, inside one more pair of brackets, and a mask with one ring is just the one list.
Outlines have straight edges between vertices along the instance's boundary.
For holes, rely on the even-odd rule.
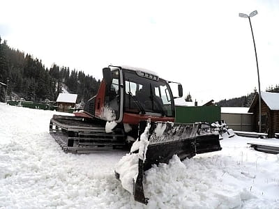
[[174,118],[171,117],[159,117],[159,116],[128,114],[128,113],[123,113],[122,122],[137,125],[140,123],[140,121],[146,121],[148,118],[151,118],[152,122],[156,122],[156,121],[174,122]]

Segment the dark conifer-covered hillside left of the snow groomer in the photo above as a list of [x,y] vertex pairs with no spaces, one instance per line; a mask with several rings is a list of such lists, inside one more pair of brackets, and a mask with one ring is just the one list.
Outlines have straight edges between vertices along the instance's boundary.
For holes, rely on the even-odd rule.
[[[1,37],[0,69],[0,82],[8,85],[8,100],[12,99],[12,95],[18,95],[33,102],[55,101],[62,92],[62,86],[66,85],[69,93],[78,94],[77,102],[80,102],[95,95],[100,85],[100,80],[82,71],[59,67],[55,63],[50,69],[45,68],[41,60],[11,49],[6,40],[1,42]],[[1,91],[0,101],[4,100],[5,95]]]

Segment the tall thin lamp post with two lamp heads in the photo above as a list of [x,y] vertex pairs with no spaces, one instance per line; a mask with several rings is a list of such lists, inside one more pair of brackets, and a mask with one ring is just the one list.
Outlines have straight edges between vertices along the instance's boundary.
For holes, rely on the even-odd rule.
[[[246,14],[243,14],[243,13],[239,13],[239,17],[243,17],[243,18],[248,18],[249,20],[249,23],[250,23],[250,28],[251,28],[251,32],[252,32],[252,24],[251,24],[251,19],[250,17],[254,17],[255,15],[257,15],[257,10],[253,11],[252,13],[250,13],[250,15],[246,15]],[[255,38],[254,38],[254,33],[252,32],[252,39],[253,39],[253,42],[254,42],[254,49],[255,49],[255,56],[256,56],[256,63],[257,63],[257,50],[256,50],[256,45],[255,45]],[[259,85],[259,132],[261,132],[262,130],[262,108],[261,108],[261,100],[262,100],[262,97],[261,97],[261,86],[259,84],[259,65],[257,63],[257,83]]]

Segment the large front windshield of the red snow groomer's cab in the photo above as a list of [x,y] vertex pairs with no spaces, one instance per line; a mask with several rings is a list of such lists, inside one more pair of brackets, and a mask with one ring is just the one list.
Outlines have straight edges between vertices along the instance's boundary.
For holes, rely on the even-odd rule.
[[126,112],[160,114],[174,117],[174,104],[169,85],[163,79],[140,77],[133,70],[124,72],[124,108]]

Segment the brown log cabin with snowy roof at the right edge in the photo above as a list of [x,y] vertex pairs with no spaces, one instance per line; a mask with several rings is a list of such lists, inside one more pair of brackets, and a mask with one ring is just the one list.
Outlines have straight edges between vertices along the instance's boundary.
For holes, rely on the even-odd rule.
[[[262,132],[274,137],[279,132],[279,93],[262,92],[261,118]],[[254,114],[252,129],[259,131],[259,95],[256,94],[249,111]]]

